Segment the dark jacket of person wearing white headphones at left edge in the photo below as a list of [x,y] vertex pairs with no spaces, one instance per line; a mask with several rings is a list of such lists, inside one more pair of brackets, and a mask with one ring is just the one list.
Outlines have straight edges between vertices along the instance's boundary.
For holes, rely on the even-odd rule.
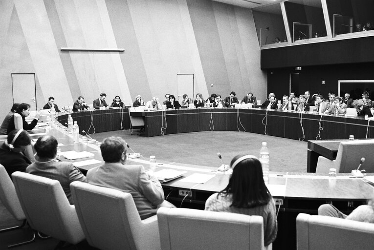
[[9,150],[5,142],[0,143],[0,164],[5,167],[6,172],[12,178],[15,171],[25,172],[31,161],[23,154]]

